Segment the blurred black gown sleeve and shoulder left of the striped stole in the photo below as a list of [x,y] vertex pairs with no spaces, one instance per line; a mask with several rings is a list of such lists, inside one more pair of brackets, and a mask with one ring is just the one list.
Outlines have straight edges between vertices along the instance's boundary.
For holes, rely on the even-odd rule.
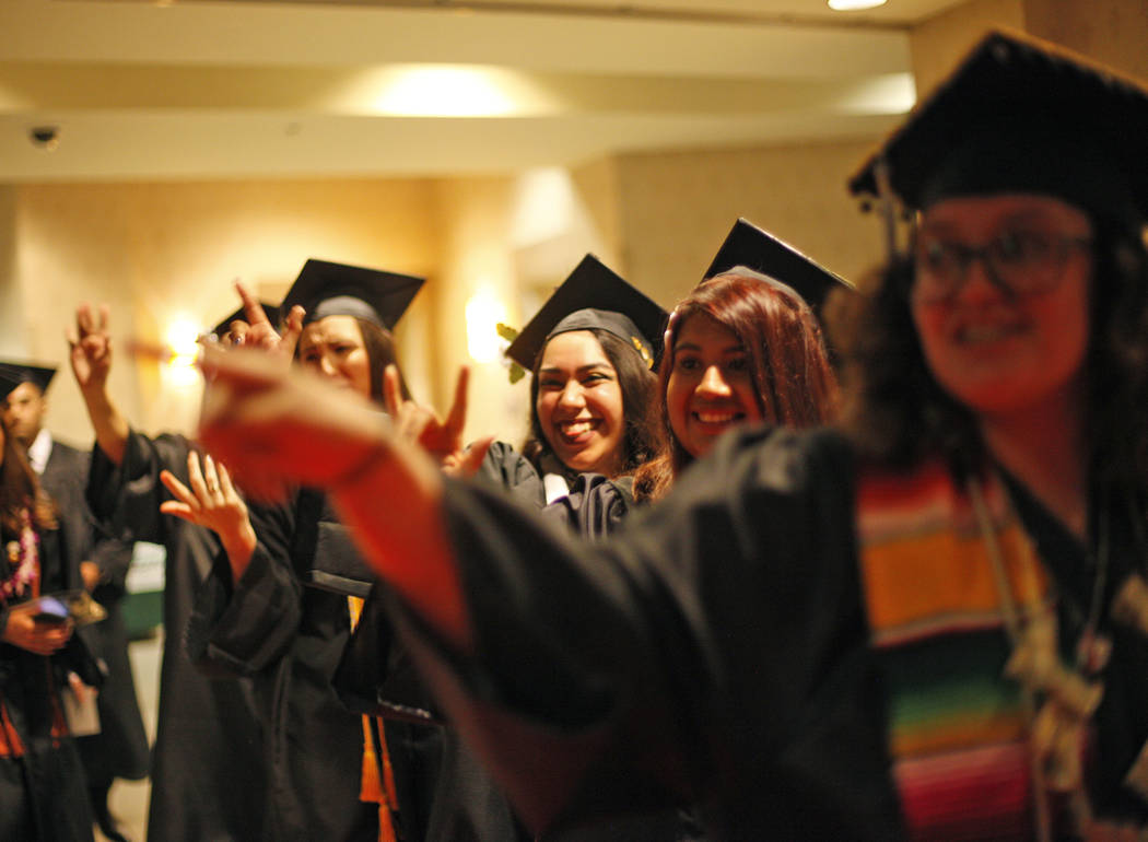
[[416,635],[440,700],[540,827],[685,802],[716,839],[898,837],[848,448],[742,431],[689,473],[585,561],[450,484],[476,656]]

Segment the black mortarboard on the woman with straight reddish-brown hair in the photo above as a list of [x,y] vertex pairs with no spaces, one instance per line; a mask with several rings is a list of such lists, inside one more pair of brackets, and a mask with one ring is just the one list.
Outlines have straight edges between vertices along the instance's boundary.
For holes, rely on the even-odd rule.
[[728,272],[734,266],[752,269],[793,287],[815,310],[821,307],[830,289],[837,286],[853,288],[845,278],[815,263],[747,219],[734,223],[705,277]]

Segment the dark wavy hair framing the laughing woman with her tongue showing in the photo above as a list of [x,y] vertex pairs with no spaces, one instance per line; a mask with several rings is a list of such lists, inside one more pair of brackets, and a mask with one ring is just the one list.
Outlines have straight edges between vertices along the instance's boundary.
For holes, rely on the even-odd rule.
[[[634,473],[639,465],[656,458],[665,447],[661,424],[657,417],[658,377],[646,368],[645,361],[631,346],[613,333],[597,327],[588,330],[602,345],[606,358],[618,372],[618,385],[622,389],[622,414],[626,427],[622,434],[623,458],[616,476],[625,477]],[[544,354],[545,346],[538,352],[532,369],[530,433],[522,443],[522,455],[535,468],[538,468],[538,461],[544,454],[551,453],[546,437],[542,432],[542,424],[538,422],[537,410],[538,366],[542,365]]]

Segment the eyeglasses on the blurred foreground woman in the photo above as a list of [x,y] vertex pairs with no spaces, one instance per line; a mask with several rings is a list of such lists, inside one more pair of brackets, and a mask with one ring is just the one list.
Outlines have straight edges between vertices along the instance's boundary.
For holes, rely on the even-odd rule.
[[952,301],[979,260],[988,280],[1013,298],[1048,292],[1061,281],[1069,253],[1087,237],[1042,231],[1002,231],[980,247],[924,237],[917,242],[913,298],[924,304]]

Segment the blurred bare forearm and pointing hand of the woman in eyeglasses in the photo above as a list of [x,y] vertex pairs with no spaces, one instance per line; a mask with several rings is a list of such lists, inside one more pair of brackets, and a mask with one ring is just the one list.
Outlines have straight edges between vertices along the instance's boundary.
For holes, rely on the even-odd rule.
[[266,354],[207,349],[203,443],[256,496],[326,489],[375,571],[453,646],[471,628],[441,512],[439,469],[371,405]]

